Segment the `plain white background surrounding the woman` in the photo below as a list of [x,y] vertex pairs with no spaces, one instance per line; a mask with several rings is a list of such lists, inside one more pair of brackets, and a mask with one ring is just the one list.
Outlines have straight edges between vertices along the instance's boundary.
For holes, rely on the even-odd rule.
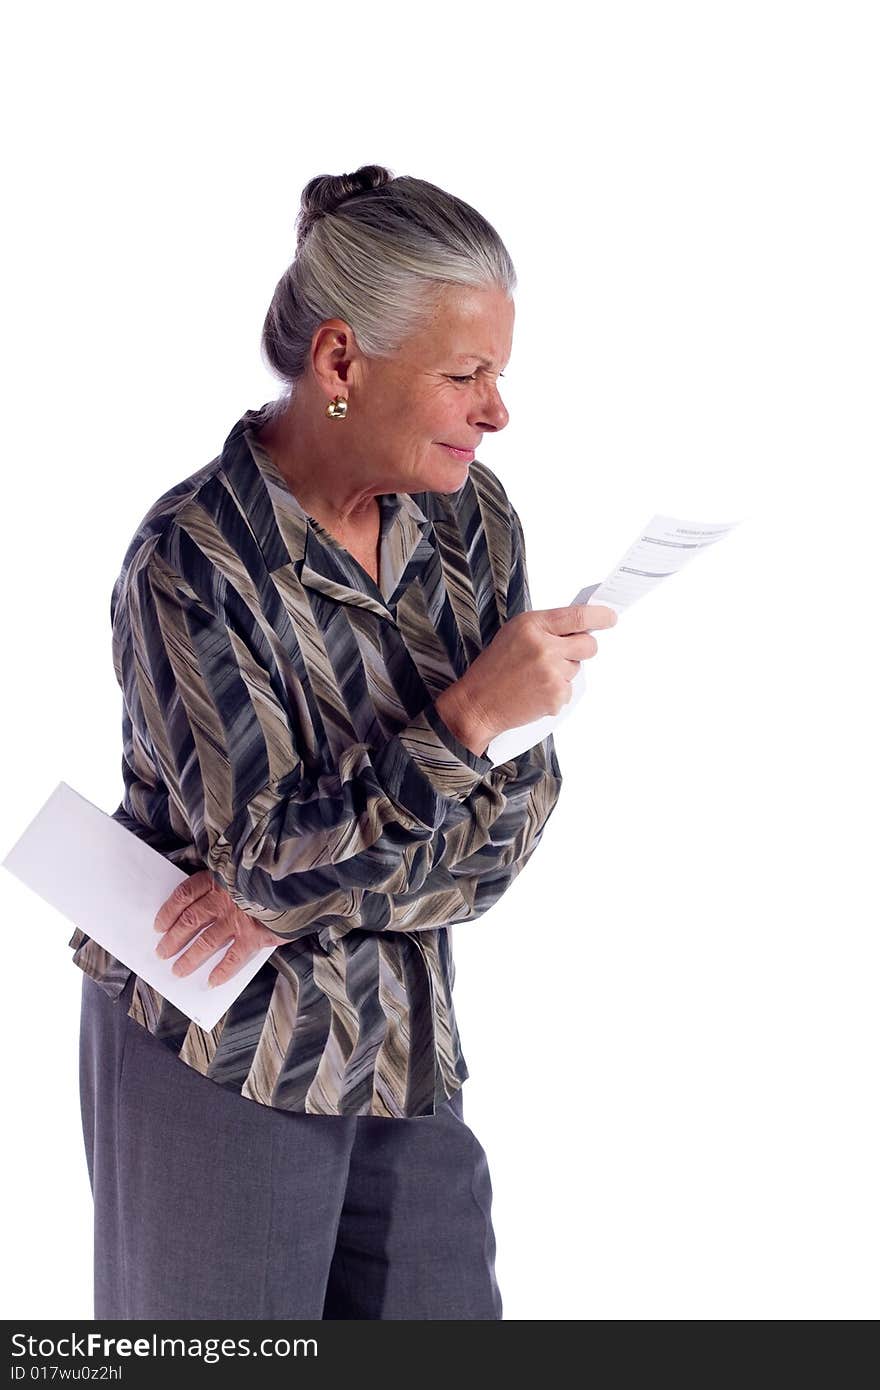
[[[277,393],[260,328],[316,174],[385,164],[505,238],[510,424],[480,457],[535,607],[655,512],[748,518],[599,635],[545,838],[455,931],[506,1319],[880,1311],[876,17],[7,21],[1,853],[61,778],[120,801],[113,581]],[[0,894],[3,1311],[88,1319],[71,927]]]

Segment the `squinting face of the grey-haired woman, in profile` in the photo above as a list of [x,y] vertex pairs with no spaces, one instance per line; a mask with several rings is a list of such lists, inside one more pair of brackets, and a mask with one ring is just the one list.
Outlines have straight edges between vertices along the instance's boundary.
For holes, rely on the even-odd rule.
[[507,410],[498,377],[513,339],[513,300],[498,289],[448,286],[428,328],[392,357],[356,354],[346,379],[346,445],[388,491],[457,492],[487,431]]

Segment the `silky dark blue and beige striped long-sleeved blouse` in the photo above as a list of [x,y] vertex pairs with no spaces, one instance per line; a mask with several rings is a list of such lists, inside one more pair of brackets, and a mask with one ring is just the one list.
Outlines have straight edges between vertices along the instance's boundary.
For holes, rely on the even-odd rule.
[[[494,766],[434,703],[531,606],[523,530],[478,460],[455,493],[382,495],[377,585],[261,448],[266,410],[125,553],[114,820],[286,941],[211,1030],[139,977],[128,1012],[263,1105],[431,1115],[468,1076],[450,927],[498,902],[562,785],[552,738]],[[70,945],[117,998],[132,972]]]

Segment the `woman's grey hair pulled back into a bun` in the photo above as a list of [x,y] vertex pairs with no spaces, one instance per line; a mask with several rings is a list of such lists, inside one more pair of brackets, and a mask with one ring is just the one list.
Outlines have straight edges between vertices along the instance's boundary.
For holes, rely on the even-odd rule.
[[386,357],[427,325],[443,286],[516,289],[507,249],[475,208],[380,164],[313,178],[296,224],[296,254],[263,324],[263,356],[288,384],[277,410],[304,375],[324,320],[345,320],[361,352]]

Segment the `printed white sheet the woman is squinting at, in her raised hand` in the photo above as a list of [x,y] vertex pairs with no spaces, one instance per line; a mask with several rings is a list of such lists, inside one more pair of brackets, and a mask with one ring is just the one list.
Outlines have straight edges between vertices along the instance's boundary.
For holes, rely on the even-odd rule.
[[[681,521],[678,517],[655,516],[633,542],[623,560],[599,584],[591,584],[574,595],[571,603],[603,603],[620,616],[626,607],[641,599],[662,580],[681,570],[688,560],[728,535],[738,521]],[[569,717],[587,688],[584,663],[571,681],[571,698],[559,714],[545,714],[530,724],[506,728],[487,748],[492,763],[506,763],[534,748]]]

